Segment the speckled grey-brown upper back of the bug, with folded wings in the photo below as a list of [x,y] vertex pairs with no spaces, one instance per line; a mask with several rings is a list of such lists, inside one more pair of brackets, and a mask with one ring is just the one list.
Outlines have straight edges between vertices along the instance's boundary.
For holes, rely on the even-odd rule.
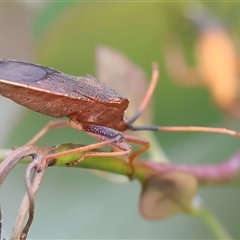
[[[33,63],[0,59],[1,79],[13,85],[27,85],[39,92],[51,92],[82,100],[97,100],[106,104],[122,104],[127,107],[128,100],[106,84],[87,75],[75,77],[54,69]],[[67,100],[67,99],[66,99]]]

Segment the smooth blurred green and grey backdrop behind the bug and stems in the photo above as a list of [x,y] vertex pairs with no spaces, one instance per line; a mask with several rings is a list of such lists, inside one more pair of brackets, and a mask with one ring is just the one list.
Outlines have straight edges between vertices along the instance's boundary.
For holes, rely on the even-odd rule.
[[[238,121],[216,108],[204,88],[177,85],[165,69],[164,46],[180,39],[194,65],[196,29],[183,17],[189,3],[180,2],[19,2],[0,3],[0,55],[46,65],[72,75],[95,75],[95,48],[113,47],[140,66],[150,79],[151,63],[160,65],[154,93],[155,125],[203,125],[240,129]],[[239,35],[239,3],[204,3]],[[117,89],[116,89],[117,90]],[[127,96],[134,98],[132,96]],[[21,146],[50,119],[0,98],[1,148]],[[175,163],[214,163],[228,159],[240,140],[204,133],[158,133],[159,143]],[[86,134],[54,130],[39,141],[89,143]],[[8,237],[24,191],[26,166],[17,166],[1,189],[3,236]],[[36,217],[29,238],[209,239],[198,219],[179,215],[149,222],[138,212],[137,182],[116,184],[84,170],[50,168],[37,195]],[[239,238],[240,191],[219,186],[199,195],[234,238]]]

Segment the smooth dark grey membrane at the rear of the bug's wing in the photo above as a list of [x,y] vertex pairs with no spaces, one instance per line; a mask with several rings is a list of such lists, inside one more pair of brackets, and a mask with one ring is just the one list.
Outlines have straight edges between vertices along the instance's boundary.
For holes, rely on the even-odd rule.
[[57,71],[32,63],[0,59],[0,79],[20,84],[34,84]]

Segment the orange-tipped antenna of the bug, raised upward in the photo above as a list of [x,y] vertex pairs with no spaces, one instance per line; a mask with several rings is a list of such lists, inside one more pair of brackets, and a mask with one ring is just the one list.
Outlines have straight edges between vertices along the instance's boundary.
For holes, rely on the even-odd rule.
[[145,107],[149,103],[149,100],[152,97],[153,91],[156,88],[156,85],[157,85],[157,82],[158,82],[158,77],[159,77],[158,65],[157,65],[157,63],[153,63],[153,65],[152,65],[152,78],[151,78],[148,90],[147,90],[147,92],[146,92],[146,94],[145,94],[145,96],[142,100],[141,105],[139,106],[138,110],[136,111],[135,115],[130,120],[128,120],[128,124],[130,125],[130,129],[132,129],[131,125],[140,117],[143,110],[145,109]]

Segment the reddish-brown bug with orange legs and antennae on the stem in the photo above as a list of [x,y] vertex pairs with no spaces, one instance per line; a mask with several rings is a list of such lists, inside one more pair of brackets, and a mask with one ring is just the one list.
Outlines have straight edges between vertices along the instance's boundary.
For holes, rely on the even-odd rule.
[[[50,155],[48,159],[74,152],[85,153],[76,163],[88,156],[126,156],[131,152],[131,147],[126,142],[130,142],[142,146],[130,154],[129,161],[132,166],[132,161],[136,156],[146,151],[150,144],[142,138],[123,134],[122,132],[127,129],[216,132],[240,136],[240,133],[236,131],[222,128],[133,126],[132,124],[147,105],[157,80],[158,69],[154,65],[147,94],[133,118],[127,120],[124,112],[129,104],[128,99],[90,75],[75,77],[33,63],[0,59],[0,94],[2,96],[36,112],[55,118],[68,117],[70,119],[69,122],[49,122],[27,144],[35,143],[51,128],[69,125],[100,140],[99,143]],[[90,151],[107,145],[114,146],[120,151]]]

